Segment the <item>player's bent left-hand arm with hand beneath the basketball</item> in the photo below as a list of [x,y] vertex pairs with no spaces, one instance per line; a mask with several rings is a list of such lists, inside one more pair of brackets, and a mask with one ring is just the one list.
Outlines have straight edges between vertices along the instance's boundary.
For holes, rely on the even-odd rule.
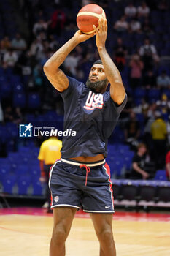
[[59,67],[65,61],[66,56],[80,43],[84,42],[90,37],[93,37],[94,34],[82,34],[80,30],[78,30],[74,37],[69,39],[65,45],[63,45],[60,49],[58,49],[50,59],[44,65],[44,72],[47,76],[47,79],[50,83],[57,89],[58,91],[64,91],[69,86],[69,80],[66,75],[63,73]]

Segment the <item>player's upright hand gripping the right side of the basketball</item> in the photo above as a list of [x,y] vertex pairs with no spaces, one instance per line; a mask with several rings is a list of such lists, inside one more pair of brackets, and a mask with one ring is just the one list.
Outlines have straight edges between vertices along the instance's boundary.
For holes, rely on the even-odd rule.
[[96,31],[96,46],[100,50],[105,47],[107,39],[107,19],[100,18],[98,20],[98,28],[93,25],[93,29]]

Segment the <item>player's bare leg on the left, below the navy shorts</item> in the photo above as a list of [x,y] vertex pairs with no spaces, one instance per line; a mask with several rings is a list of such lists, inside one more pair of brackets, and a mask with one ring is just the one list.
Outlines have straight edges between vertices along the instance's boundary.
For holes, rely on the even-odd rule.
[[77,208],[53,208],[53,234],[50,242],[50,256],[65,255],[65,241],[72,226]]

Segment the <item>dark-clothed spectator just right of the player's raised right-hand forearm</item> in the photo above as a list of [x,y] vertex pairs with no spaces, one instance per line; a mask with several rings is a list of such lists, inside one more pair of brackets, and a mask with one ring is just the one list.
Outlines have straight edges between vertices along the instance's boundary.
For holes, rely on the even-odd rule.
[[123,71],[125,67],[125,56],[127,54],[127,49],[125,45],[123,45],[123,40],[120,37],[117,38],[117,45],[115,45],[114,54],[115,64],[117,68],[120,71]]

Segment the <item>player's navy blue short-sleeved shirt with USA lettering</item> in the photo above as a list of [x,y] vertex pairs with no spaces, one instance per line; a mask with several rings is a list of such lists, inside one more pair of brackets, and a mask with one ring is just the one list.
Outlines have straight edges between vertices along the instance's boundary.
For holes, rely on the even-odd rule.
[[69,87],[61,92],[64,103],[64,130],[76,131],[76,136],[63,136],[63,158],[107,157],[107,139],[112,134],[127,96],[119,106],[113,102],[109,91],[97,94],[84,83],[69,79]]

